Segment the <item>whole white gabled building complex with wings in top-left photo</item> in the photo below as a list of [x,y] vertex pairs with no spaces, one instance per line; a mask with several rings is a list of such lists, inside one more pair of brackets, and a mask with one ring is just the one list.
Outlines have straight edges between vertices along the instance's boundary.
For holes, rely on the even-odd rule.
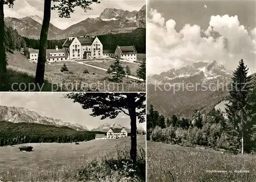
[[[132,46],[119,46],[116,50],[103,50],[103,45],[97,36],[69,37],[62,45],[62,49],[47,49],[47,62],[119,58],[125,61],[137,61],[137,51]],[[37,62],[38,50],[30,50],[28,59]]]

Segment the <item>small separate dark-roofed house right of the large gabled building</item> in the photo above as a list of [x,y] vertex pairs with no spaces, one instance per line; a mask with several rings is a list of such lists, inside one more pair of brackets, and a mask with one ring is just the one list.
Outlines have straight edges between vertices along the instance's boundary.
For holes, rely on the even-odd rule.
[[133,46],[118,46],[116,47],[115,57],[125,59],[127,61],[137,61],[137,51]]

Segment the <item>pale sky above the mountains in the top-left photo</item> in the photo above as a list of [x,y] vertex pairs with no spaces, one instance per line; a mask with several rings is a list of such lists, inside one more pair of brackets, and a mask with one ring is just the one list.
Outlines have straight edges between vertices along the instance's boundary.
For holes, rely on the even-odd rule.
[[[145,0],[100,0],[100,4],[93,4],[91,6],[92,10],[89,10],[87,13],[85,13],[82,8],[76,7],[75,12],[71,14],[71,18],[59,18],[57,10],[52,10],[51,23],[60,29],[66,29],[88,17],[99,17],[100,13],[105,8],[139,11],[144,5]],[[16,0],[14,2],[13,9],[5,5],[4,14],[5,17],[10,16],[16,18],[22,18],[30,15],[44,17],[44,0]]]

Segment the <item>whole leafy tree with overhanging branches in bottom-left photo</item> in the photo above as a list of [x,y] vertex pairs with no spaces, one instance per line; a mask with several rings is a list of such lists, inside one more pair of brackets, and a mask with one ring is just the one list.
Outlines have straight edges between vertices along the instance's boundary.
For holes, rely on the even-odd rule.
[[137,118],[145,122],[145,93],[71,93],[66,95],[82,105],[83,109],[92,109],[91,116],[101,116],[101,119],[114,119],[120,112],[131,120],[131,159],[136,163],[137,158]]

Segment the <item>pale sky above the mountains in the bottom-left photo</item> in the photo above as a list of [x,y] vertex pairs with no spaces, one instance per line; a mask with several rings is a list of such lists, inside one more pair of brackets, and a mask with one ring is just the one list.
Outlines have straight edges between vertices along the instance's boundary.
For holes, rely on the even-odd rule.
[[[64,93],[0,93],[0,105],[24,107],[37,112],[41,116],[60,119],[63,122],[78,123],[88,129],[97,128],[105,123],[122,124],[130,127],[130,118],[124,113],[119,113],[116,119],[100,120],[100,117],[90,116],[91,110],[84,110],[79,103],[73,103],[71,99],[63,98]],[[137,127],[144,123],[137,123]]]

